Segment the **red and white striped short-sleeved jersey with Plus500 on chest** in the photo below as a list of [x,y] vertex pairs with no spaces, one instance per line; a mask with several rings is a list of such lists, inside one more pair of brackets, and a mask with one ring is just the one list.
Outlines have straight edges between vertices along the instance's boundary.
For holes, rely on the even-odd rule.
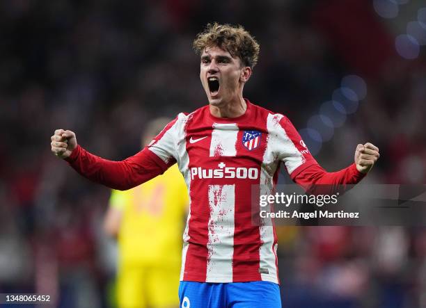
[[246,102],[230,119],[209,106],[180,113],[148,146],[164,163],[177,161],[189,191],[181,280],[278,283],[275,229],[253,225],[251,187],[266,195],[281,162],[294,178],[316,161],[287,117]]

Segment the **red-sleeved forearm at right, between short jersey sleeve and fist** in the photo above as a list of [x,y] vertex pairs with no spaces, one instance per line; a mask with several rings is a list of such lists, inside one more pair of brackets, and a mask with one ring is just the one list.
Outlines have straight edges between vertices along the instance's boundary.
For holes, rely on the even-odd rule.
[[344,193],[353,185],[358,184],[363,177],[365,174],[359,172],[355,164],[337,172],[326,172],[320,165],[313,164],[292,176],[292,179],[309,193],[333,194]]

